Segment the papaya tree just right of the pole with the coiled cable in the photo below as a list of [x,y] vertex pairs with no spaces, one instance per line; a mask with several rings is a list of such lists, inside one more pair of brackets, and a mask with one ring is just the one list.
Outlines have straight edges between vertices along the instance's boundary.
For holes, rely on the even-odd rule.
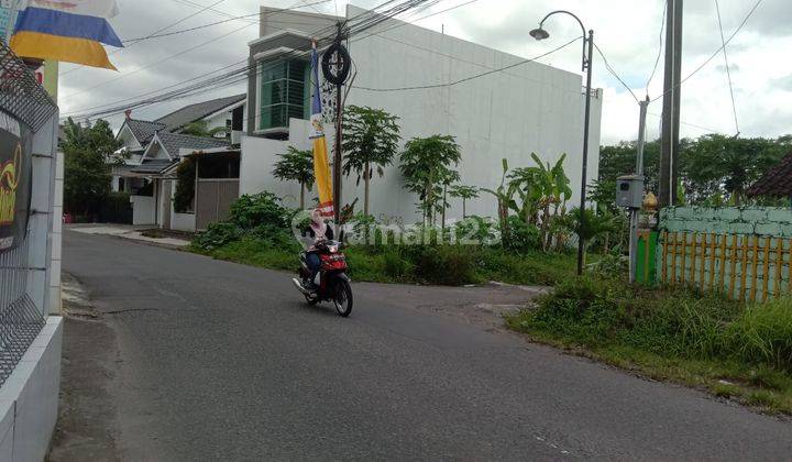
[[383,167],[393,164],[398,150],[398,117],[382,109],[350,106],[343,113],[343,173],[358,174],[358,185],[363,178],[363,213],[369,216],[369,191],[371,177],[376,167],[382,177]]

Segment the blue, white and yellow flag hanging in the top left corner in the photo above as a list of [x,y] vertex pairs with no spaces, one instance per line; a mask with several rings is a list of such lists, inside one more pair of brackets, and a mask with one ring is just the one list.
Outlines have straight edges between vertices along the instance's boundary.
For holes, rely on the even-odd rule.
[[23,57],[116,69],[101,46],[123,46],[108,22],[116,14],[116,0],[31,0],[16,18],[11,50]]

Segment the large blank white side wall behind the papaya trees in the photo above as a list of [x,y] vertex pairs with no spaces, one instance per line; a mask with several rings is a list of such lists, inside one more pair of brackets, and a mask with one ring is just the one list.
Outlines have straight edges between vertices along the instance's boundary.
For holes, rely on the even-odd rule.
[[[362,11],[350,7],[348,14],[354,16]],[[353,40],[350,53],[358,66],[354,85],[371,88],[455,81],[522,61],[409,24]],[[531,152],[551,163],[566,153],[564,167],[575,191],[571,202],[579,202],[584,95],[582,76],[578,74],[527,63],[452,87],[384,92],[353,89],[346,103],[383,108],[398,116],[405,141],[432,134],[455,136],[462,147],[459,173],[466,185],[497,186],[504,157],[514,168],[532,165]],[[597,177],[601,113],[602,99],[593,99],[587,183]],[[396,166],[387,168],[384,178],[373,178],[372,185],[374,215],[418,218],[414,211],[417,198],[405,197],[413,195],[403,191]],[[349,202],[355,189],[354,177],[344,186],[344,202]],[[361,197],[359,204],[363,201],[362,190],[361,185],[355,191]],[[461,201],[451,202],[457,207],[450,217],[461,216]],[[469,201],[468,211],[492,216],[494,199],[483,196]]]

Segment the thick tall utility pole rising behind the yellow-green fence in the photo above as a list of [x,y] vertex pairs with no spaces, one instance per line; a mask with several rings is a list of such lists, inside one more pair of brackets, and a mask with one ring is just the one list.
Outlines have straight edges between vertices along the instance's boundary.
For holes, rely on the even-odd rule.
[[682,77],[682,3],[668,0],[666,13],[666,75],[660,136],[660,207],[676,204],[679,178],[680,81]]

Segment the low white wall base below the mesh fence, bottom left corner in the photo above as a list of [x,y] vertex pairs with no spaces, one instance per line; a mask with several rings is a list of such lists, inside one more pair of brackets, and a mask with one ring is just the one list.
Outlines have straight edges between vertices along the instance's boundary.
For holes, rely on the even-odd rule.
[[63,318],[50,317],[0,388],[0,461],[42,461],[58,408]]

